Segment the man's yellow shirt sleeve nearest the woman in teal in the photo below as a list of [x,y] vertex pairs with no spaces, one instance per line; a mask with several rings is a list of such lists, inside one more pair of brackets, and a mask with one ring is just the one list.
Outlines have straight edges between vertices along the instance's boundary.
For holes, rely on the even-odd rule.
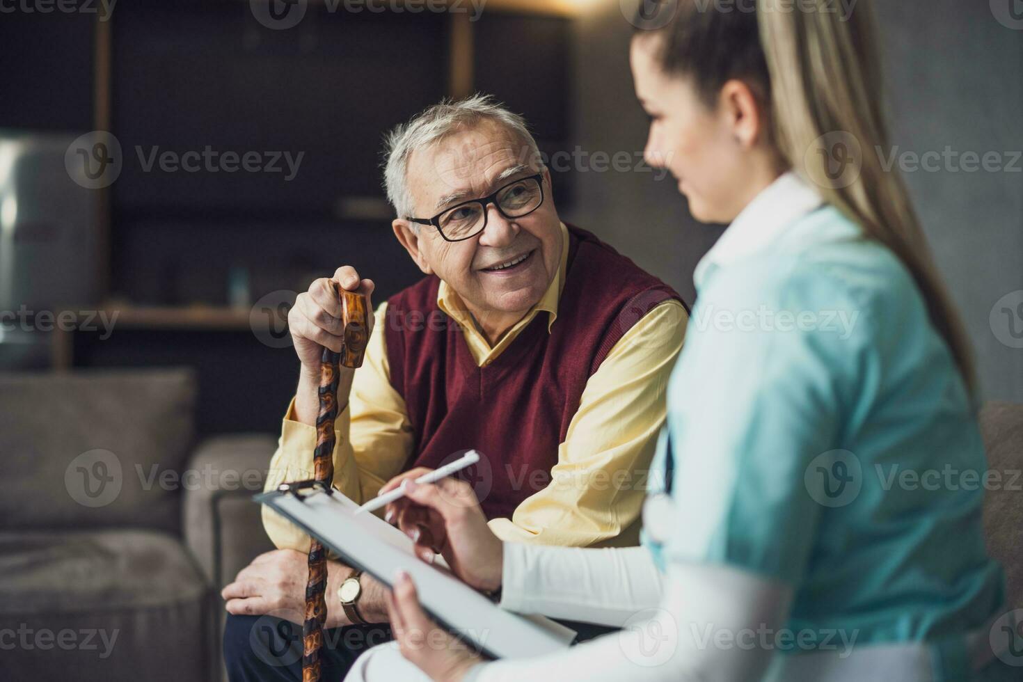
[[588,546],[635,544],[647,470],[664,423],[668,379],[682,347],[685,309],[656,306],[611,349],[583,390],[551,483],[511,518],[493,518],[501,540]]

